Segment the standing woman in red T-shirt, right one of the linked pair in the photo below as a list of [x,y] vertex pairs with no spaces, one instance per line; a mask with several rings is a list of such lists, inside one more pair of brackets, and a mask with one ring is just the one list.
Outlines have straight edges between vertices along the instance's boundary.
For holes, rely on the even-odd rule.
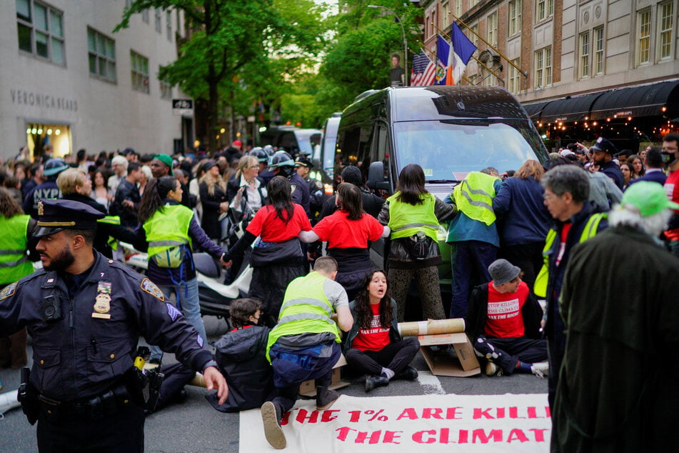
[[338,211],[319,221],[311,232],[300,232],[299,237],[302,242],[320,239],[328,243],[328,255],[336,259],[338,265],[335,281],[346,289],[349,299],[353,299],[373,267],[369,241],[388,237],[391,230],[363,211],[361,190],[353,184],[345,182],[337,187],[336,203]]

